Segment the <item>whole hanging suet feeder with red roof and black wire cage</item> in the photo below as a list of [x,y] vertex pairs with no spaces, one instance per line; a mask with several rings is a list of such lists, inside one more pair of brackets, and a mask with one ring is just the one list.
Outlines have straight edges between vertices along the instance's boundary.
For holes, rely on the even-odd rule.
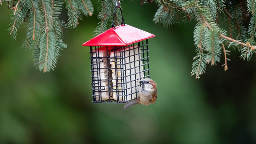
[[137,81],[150,76],[148,39],[152,37],[125,24],[122,15],[121,25],[115,26],[113,20],[112,28],[83,44],[90,46],[93,103],[124,103],[138,96]]

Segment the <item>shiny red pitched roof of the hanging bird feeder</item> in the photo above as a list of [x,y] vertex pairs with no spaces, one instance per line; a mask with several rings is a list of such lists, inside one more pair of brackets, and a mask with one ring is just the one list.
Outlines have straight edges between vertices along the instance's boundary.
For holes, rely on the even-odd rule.
[[98,36],[93,37],[89,41],[82,44],[83,46],[126,46],[133,44],[155,35],[143,31],[139,28],[134,28],[127,24],[109,28],[107,31]]

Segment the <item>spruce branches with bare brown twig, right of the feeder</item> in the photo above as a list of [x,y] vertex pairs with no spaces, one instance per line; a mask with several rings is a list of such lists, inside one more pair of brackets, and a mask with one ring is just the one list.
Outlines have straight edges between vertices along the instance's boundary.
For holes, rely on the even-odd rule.
[[[158,1],[156,1],[158,2]],[[179,4],[176,3],[174,0],[169,0],[170,3],[173,5],[178,6]],[[244,20],[248,17],[248,14],[244,10],[244,3],[241,0],[238,1],[215,1],[215,0],[202,0],[202,1],[183,1],[182,2],[182,9],[179,11],[179,13],[184,12],[186,16],[189,16],[188,19],[196,20],[198,21],[197,25],[200,25],[201,28],[205,29],[204,27],[207,27],[206,32],[201,32],[197,26],[194,31],[194,41],[195,45],[198,47],[203,47],[203,51],[207,52],[207,55],[205,59],[202,59],[202,50],[197,50],[198,54],[194,58],[194,62],[192,64],[192,75],[196,75],[196,78],[199,78],[198,76],[202,74],[204,71],[198,71],[202,69],[200,68],[200,65],[202,62],[211,63],[211,65],[215,65],[216,62],[220,61],[220,54],[221,49],[223,49],[224,57],[225,57],[225,68],[226,71],[227,68],[227,50],[225,49],[225,46],[223,47],[223,43],[229,44],[228,47],[238,47],[243,48],[243,50],[248,51],[249,55],[251,55],[252,51],[255,49],[254,41],[247,41],[243,42],[245,38],[247,37],[246,28],[244,26]],[[168,10],[168,9],[167,9]],[[231,13],[230,13],[231,12]],[[159,8],[154,16],[154,21],[156,23],[162,23],[164,26],[166,26],[163,21],[164,13],[164,7],[163,5],[159,4]],[[175,15],[175,14],[172,14]],[[229,37],[226,36],[225,30],[220,29],[219,25],[217,24],[219,22],[219,19],[223,19],[224,17],[228,17],[228,32]],[[252,19],[253,20],[253,17]],[[256,21],[255,21],[256,22]],[[249,27],[253,27],[252,22],[250,23]],[[255,23],[253,23],[255,24]],[[256,28],[256,25],[255,25]],[[250,28],[249,28],[250,30]],[[255,34],[255,29],[251,28],[251,31],[249,31],[252,34]],[[233,39],[232,37],[236,37],[239,40]],[[251,39],[254,40],[254,35],[251,35]],[[197,38],[196,38],[197,37]],[[198,43],[196,43],[198,40]],[[224,50],[225,49],[225,50]],[[238,50],[239,50],[238,49]],[[244,51],[242,51],[243,54]],[[246,53],[246,55],[248,55]],[[204,67],[205,68],[205,67]],[[202,72],[202,73],[200,73]]]

